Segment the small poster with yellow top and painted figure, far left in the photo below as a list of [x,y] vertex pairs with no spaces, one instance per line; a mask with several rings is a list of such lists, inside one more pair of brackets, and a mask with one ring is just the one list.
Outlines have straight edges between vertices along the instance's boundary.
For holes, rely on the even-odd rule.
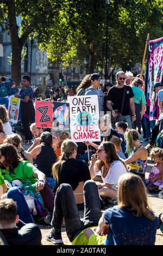
[[17,124],[20,101],[21,100],[14,97],[14,95],[9,96],[8,118],[12,124]]

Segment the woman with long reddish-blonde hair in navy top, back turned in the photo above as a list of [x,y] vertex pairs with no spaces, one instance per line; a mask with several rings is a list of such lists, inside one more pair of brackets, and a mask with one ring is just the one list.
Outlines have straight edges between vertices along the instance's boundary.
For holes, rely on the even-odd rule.
[[104,245],[154,245],[159,226],[141,178],[123,174],[118,181],[118,205],[105,210],[98,223],[97,230],[108,233]]

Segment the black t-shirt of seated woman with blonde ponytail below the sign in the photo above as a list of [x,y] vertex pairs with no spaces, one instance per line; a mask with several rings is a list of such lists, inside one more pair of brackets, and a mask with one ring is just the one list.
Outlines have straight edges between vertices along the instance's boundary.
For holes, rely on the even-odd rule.
[[66,160],[59,168],[58,181],[55,181],[54,192],[62,183],[70,184],[72,190],[76,190],[80,181],[90,180],[89,168],[85,161],[76,159]]

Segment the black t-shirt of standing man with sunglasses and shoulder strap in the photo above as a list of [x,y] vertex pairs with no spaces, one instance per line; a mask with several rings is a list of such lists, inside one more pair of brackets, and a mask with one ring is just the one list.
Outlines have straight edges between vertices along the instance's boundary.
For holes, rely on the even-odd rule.
[[[112,102],[113,109],[119,109],[121,111],[121,105],[123,100],[123,93],[124,93],[124,86],[123,88],[117,88],[113,86],[109,89],[107,100]],[[134,97],[133,90],[130,86],[126,86],[126,95],[124,98],[124,105],[122,115],[129,115],[130,114],[130,98]]]

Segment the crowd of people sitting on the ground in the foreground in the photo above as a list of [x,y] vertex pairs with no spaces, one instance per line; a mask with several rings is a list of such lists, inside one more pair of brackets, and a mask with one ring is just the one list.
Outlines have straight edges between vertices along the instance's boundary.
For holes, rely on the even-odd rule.
[[[146,190],[158,189],[163,183],[163,149],[151,150],[155,166],[146,180],[148,151],[139,133],[128,128],[122,137],[111,129],[108,135],[105,118],[99,120],[102,143],[83,143],[96,149],[95,154],[90,150],[90,166],[78,160],[78,145],[68,132],[51,135],[32,124],[37,142],[28,151],[22,148],[20,135],[4,136],[0,145],[0,231],[9,245],[40,245],[38,223],[52,225],[47,240],[62,243],[63,221],[72,245],[154,245],[163,215],[157,217],[149,208]],[[98,184],[96,176],[101,176]],[[33,209],[28,204],[32,200]],[[84,210],[83,221],[78,210]]]

